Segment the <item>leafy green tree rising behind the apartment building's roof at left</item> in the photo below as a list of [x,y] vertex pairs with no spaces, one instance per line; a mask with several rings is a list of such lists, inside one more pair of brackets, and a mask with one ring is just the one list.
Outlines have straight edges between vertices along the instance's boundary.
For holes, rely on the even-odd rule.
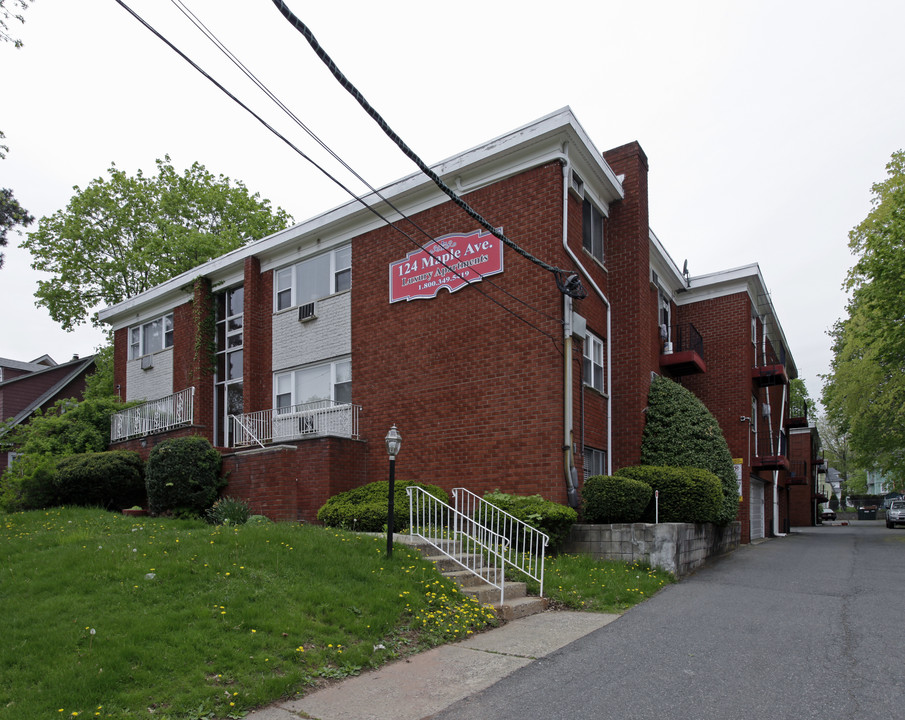
[[111,165],[65,210],[41,218],[22,247],[38,282],[36,304],[66,330],[97,325],[92,310],[115,304],[245,243],[287,227],[292,218],[245,185],[194,163],[179,174],[167,155],[157,174],[129,176]]

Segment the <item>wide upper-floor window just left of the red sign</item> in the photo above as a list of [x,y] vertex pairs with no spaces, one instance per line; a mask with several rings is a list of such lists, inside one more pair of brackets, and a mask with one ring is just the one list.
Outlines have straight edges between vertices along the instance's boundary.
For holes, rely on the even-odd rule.
[[352,287],[352,246],[303,260],[274,273],[277,310],[306,305]]

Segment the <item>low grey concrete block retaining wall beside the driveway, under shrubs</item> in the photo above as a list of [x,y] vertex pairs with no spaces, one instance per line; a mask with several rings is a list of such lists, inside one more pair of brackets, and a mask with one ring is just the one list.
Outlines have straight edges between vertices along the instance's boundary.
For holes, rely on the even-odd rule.
[[625,523],[572,526],[564,552],[644,563],[684,577],[709,559],[738,549],[740,523]]

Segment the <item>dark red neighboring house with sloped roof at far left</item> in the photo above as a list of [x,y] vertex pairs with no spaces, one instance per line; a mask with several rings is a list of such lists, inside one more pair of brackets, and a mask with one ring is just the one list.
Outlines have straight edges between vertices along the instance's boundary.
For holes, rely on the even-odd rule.
[[[57,400],[81,400],[85,378],[94,372],[94,356],[73,356],[57,364],[49,355],[31,362],[0,358],[0,422],[12,426],[28,422],[36,410],[46,410]],[[0,472],[12,462],[15,453],[0,451]]]

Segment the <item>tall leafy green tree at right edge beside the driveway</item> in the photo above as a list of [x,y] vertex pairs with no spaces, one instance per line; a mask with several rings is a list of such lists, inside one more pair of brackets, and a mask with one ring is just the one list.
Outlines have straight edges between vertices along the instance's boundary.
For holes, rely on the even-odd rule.
[[[836,323],[823,404],[847,436],[853,467],[905,482],[905,152],[872,187],[871,211],[849,234],[858,260],[846,287],[848,317]],[[851,472],[848,473],[848,481]]]

